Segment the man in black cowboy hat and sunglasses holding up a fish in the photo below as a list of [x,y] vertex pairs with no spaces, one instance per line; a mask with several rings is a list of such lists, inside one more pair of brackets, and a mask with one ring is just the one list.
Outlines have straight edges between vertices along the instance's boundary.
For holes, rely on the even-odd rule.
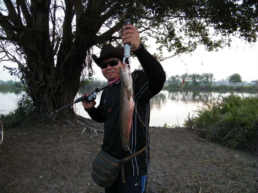
[[[139,32],[133,25],[125,25],[122,33],[123,45],[130,43],[131,51],[137,56],[143,70],[132,73],[135,109],[130,133],[130,151],[135,153],[149,144],[149,100],[158,94],[165,82],[165,72],[161,64],[140,43]],[[124,151],[119,129],[119,105],[121,82],[119,67],[124,68],[124,49],[112,45],[104,45],[100,57],[92,55],[93,61],[101,68],[109,86],[104,89],[100,104],[95,108],[96,101],[82,105],[90,117],[97,122],[104,122],[104,139],[102,150],[120,159],[130,154]],[[90,93],[85,93],[89,96]],[[139,155],[124,164],[126,183],[122,183],[121,172],[112,187],[105,188],[108,193],[145,192],[149,168],[149,146]]]

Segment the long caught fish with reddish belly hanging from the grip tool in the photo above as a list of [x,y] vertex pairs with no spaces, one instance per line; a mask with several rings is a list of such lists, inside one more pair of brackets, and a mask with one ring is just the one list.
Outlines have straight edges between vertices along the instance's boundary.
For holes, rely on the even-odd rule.
[[125,65],[125,69],[120,68],[119,73],[121,79],[119,126],[122,147],[127,151],[130,146],[130,131],[134,112],[133,79],[128,65]]

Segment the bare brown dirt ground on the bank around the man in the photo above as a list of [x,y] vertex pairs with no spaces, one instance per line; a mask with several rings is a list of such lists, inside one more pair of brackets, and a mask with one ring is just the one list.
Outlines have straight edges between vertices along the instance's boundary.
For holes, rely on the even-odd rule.
[[[87,119],[90,127],[102,129]],[[104,192],[91,179],[103,133],[63,121],[4,131],[0,192]],[[257,163],[185,128],[150,127],[148,193],[258,191]]]

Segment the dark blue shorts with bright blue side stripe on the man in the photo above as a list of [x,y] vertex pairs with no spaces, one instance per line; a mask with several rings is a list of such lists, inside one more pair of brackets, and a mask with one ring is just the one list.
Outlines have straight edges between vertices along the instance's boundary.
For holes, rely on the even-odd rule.
[[125,174],[125,181],[126,183],[124,184],[120,172],[113,185],[110,188],[105,188],[105,193],[145,193],[147,175],[131,176]]

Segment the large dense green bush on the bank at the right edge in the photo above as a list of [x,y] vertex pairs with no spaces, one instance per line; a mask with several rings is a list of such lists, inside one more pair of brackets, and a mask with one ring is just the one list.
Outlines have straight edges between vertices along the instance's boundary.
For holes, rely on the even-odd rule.
[[[205,129],[206,138],[224,143],[231,148],[257,145],[258,98],[231,94],[228,97],[213,98],[212,104],[204,102],[192,118],[195,128]],[[189,121],[184,125],[189,127]]]

